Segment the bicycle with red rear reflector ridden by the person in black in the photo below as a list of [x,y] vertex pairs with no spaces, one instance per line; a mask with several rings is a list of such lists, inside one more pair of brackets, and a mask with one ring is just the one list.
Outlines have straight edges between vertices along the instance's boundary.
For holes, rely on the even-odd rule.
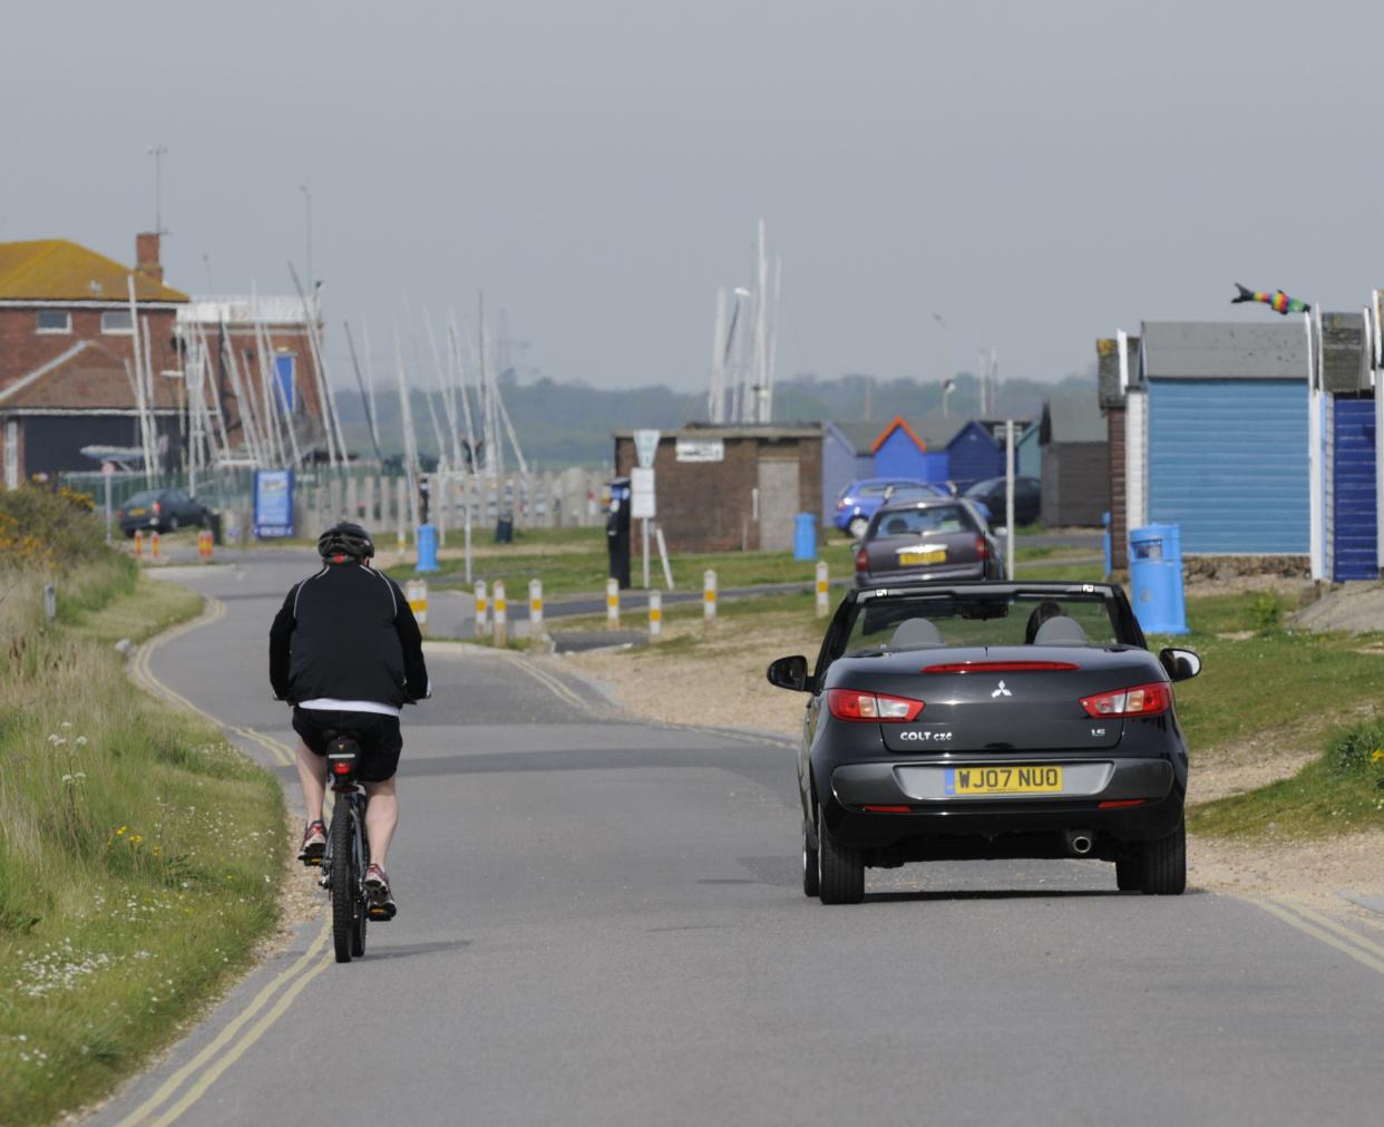
[[370,897],[365,893],[365,869],[370,865],[370,840],[365,838],[365,792],[356,779],[360,745],[349,735],[327,741],[327,764],[336,804],[327,828],[327,851],[318,858],[322,874],[318,883],[332,900],[332,940],[336,961],[350,962],[365,954],[365,923],[370,921]]

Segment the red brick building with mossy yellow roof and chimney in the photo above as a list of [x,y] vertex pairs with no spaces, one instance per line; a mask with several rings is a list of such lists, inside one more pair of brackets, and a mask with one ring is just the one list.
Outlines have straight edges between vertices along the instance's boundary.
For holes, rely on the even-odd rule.
[[[136,325],[130,310],[134,282]],[[136,328],[147,327],[158,442],[176,439],[174,318],[187,295],[163,284],[159,238],[136,238],[136,266],[68,240],[0,242],[0,465],[14,489],[33,474],[95,469],[84,446],[138,446]]]

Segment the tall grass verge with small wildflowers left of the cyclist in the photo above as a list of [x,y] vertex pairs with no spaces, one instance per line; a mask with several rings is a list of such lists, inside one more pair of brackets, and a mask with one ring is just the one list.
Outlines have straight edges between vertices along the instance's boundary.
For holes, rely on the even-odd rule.
[[0,604],[0,1123],[109,1091],[275,921],[277,782],[109,644],[199,604],[122,558],[60,577],[53,629],[35,579]]

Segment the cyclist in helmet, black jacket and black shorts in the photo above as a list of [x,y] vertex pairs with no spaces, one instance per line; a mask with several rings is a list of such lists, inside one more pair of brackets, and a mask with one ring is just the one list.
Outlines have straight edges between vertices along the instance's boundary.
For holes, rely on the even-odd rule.
[[327,850],[328,734],[350,734],[360,743],[357,777],[368,797],[371,915],[390,919],[397,908],[385,860],[399,825],[399,714],[432,695],[422,634],[399,584],[371,566],[375,544],[365,529],[335,525],[318,539],[317,552],[322,569],[289,588],[268,635],[270,683],[275,698],[293,705],[299,735],[307,828],[298,857],[311,864]]

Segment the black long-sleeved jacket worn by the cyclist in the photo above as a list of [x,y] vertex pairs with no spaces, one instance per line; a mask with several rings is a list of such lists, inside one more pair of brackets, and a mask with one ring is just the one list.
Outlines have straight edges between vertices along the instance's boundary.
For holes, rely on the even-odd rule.
[[425,698],[424,640],[399,584],[354,561],[295,583],[268,631],[268,680],[293,703]]

